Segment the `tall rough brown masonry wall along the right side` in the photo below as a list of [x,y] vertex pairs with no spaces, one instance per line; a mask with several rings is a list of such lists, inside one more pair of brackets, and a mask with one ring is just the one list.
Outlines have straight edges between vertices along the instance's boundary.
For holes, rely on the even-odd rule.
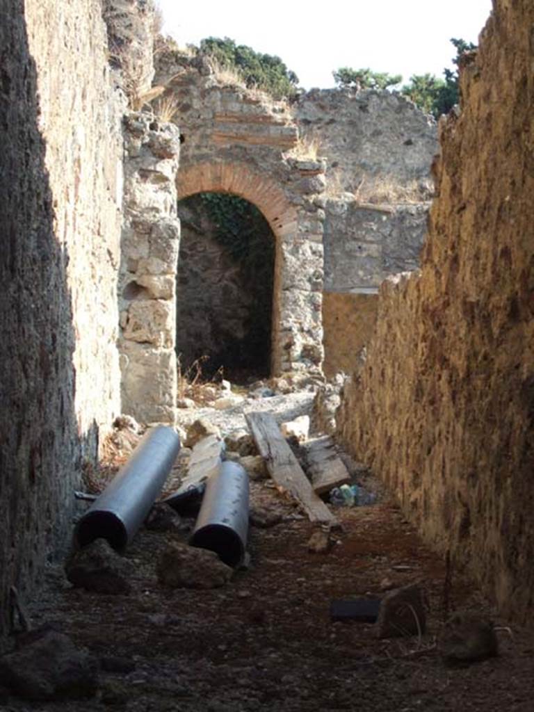
[[441,128],[422,271],[384,284],[340,433],[501,610],[534,603],[534,6],[497,0]]

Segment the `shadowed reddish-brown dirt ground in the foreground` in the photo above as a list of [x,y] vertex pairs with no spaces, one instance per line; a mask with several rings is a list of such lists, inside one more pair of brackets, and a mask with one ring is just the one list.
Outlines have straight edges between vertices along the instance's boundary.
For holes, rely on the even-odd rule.
[[[378,712],[534,709],[533,637],[499,633],[498,657],[451,668],[433,647],[446,615],[443,560],[422,545],[393,503],[340,508],[342,532],[328,553],[308,553],[313,527],[273,488],[251,483],[254,506],[284,515],[251,528],[248,570],[215,590],[168,590],[155,566],[170,536],[143,529],[127,550],[136,575],[129,595],[73,589],[51,567],[31,609],[34,625],[56,624],[95,656],[121,656],[125,673],[100,673],[88,701],[28,703],[10,697],[6,712]],[[429,630],[378,640],[372,624],[331,622],[330,601],[381,595],[390,585],[421,582]],[[476,587],[453,572],[449,607],[491,613]]]

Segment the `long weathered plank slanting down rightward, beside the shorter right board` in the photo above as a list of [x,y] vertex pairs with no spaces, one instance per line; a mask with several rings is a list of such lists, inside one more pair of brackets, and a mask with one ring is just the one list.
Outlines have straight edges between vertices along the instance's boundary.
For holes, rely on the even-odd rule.
[[273,415],[248,413],[246,422],[256,441],[258,451],[266,461],[269,474],[276,484],[288,491],[300,503],[311,522],[337,525],[333,513],[313,491],[310,481],[283,438]]

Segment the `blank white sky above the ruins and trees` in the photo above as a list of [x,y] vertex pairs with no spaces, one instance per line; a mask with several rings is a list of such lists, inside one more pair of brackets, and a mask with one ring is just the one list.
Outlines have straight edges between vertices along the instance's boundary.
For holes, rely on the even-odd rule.
[[300,85],[330,87],[333,70],[441,76],[455,54],[451,37],[477,43],[491,0],[157,0],[164,33],[180,45],[230,37],[279,56]]

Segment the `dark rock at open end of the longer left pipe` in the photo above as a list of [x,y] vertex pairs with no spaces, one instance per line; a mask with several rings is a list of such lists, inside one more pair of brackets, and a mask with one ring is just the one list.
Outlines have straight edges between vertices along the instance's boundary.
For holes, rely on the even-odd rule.
[[96,593],[127,593],[132,564],[117,554],[105,539],[96,539],[76,551],[66,562],[65,572],[75,587]]

